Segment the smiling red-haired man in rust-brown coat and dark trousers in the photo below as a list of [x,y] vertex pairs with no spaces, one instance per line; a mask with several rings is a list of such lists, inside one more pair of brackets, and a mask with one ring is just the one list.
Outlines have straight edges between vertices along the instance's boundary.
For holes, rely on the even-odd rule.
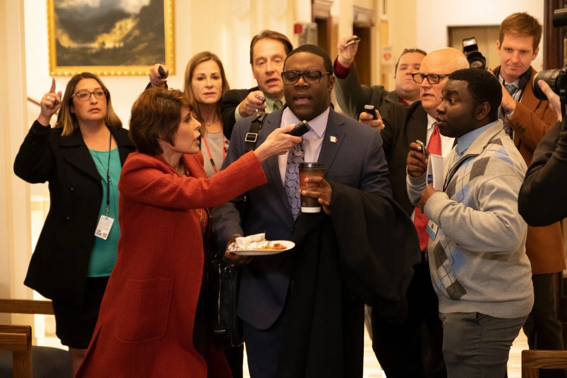
[[[532,91],[536,71],[531,67],[539,52],[541,24],[527,13],[514,13],[503,20],[496,43],[500,66],[494,74],[502,83],[499,117],[520,154],[530,165],[535,148],[555,123],[557,115],[548,101]],[[526,254],[532,266],[534,308],[524,325],[530,349],[562,350],[561,322],[553,296],[553,274],[565,269],[561,227],[528,226]],[[541,371],[541,377],[565,378],[564,370]]]

